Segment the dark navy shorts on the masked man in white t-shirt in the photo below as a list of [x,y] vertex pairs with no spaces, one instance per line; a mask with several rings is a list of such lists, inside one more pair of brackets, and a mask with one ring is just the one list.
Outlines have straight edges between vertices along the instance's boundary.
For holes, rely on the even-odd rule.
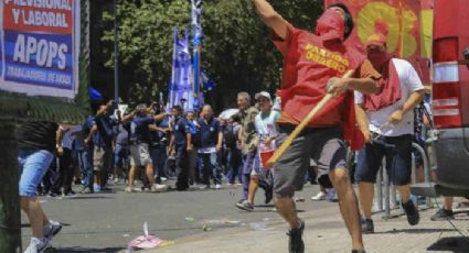
[[412,134],[380,135],[373,143],[367,143],[359,152],[355,180],[375,183],[383,157],[386,157],[390,182],[395,186],[408,185],[412,179]]

